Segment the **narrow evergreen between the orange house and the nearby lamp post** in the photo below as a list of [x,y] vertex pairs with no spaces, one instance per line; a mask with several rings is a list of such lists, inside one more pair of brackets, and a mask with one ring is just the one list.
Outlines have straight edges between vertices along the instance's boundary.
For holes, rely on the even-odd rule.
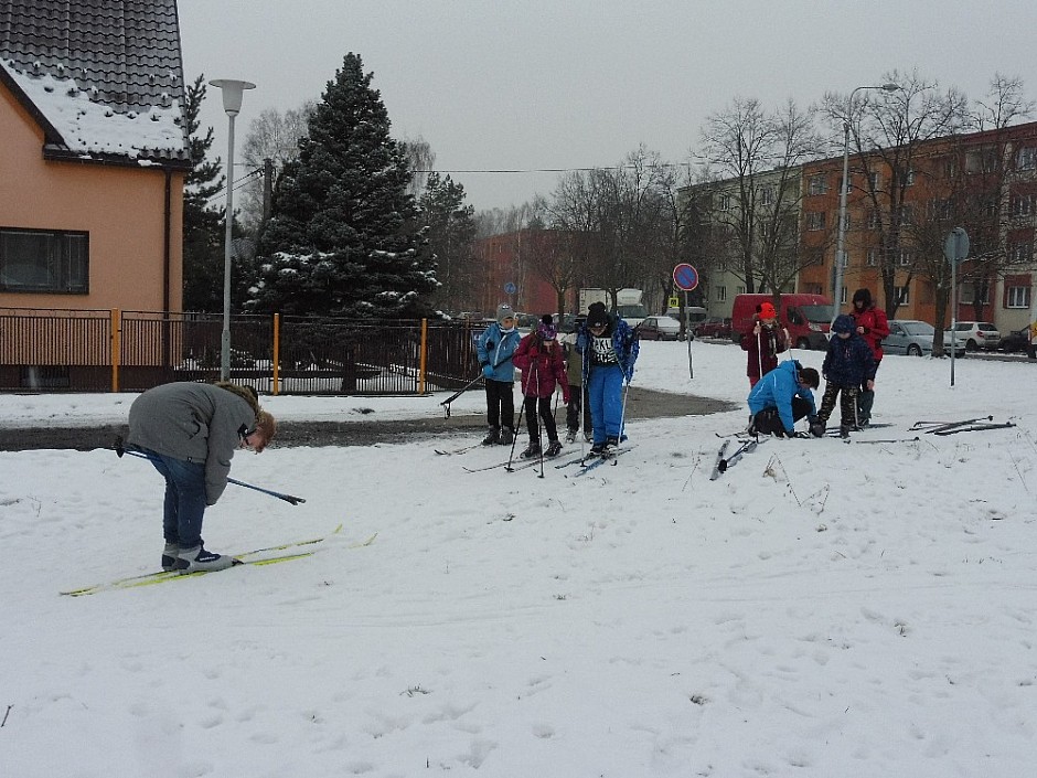
[[224,186],[220,158],[206,161],[213,128],[199,136],[199,114],[205,99],[205,76],[188,87],[185,115],[191,160],[183,193],[183,309],[217,312],[223,309],[223,211],[211,202]]

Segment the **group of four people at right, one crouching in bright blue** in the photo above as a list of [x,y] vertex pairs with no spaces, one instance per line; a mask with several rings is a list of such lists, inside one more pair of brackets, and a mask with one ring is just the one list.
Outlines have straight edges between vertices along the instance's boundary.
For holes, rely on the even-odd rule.
[[[789,348],[789,333],[778,324],[774,307],[763,302],[752,329],[741,337],[748,352],[749,433],[797,437],[795,423],[806,418],[810,434],[825,434],[840,404],[840,435],[868,426],[875,402],[875,375],[883,359],[883,339],[889,334],[886,312],[876,307],[868,289],[853,296],[853,310],[832,322],[832,338],[821,366],[803,367],[795,360],[779,365],[778,354]],[[825,380],[821,408],[812,390]]]

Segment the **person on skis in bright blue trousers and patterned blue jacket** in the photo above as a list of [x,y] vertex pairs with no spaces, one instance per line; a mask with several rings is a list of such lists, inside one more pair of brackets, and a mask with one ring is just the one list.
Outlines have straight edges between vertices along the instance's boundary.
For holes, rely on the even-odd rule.
[[594,302],[576,337],[584,360],[584,386],[594,429],[592,454],[608,454],[623,435],[623,385],[633,379],[638,337],[630,324],[610,316],[605,303]]

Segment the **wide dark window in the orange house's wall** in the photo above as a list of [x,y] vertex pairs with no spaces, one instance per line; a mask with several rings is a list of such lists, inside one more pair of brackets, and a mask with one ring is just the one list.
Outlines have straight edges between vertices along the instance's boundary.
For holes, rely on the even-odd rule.
[[89,234],[0,227],[0,291],[89,291]]

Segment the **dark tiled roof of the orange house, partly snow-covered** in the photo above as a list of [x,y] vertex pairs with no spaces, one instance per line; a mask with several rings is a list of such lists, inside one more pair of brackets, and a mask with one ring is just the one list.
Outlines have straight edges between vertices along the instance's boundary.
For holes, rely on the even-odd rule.
[[0,0],[0,81],[47,156],[190,163],[175,0]]

